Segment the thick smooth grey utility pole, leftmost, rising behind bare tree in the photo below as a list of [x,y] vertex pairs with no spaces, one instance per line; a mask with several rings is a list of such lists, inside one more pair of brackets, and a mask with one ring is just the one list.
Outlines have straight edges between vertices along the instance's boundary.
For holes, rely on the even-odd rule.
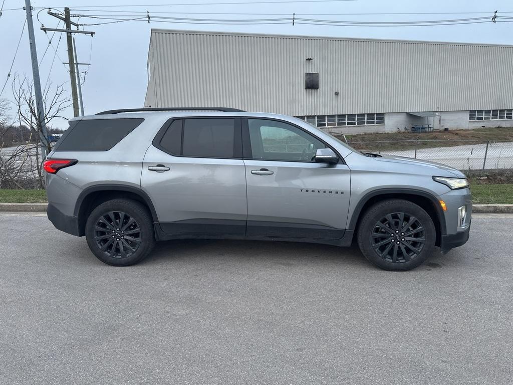
[[[37,51],[35,47],[34,25],[32,24],[32,6],[30,0],[25,0],[25,11],[27,12],[27,27],[29,31],[30,56],[32,61],[32,78],[34,81],[35,104],[37,109],[38,126],[41,126],[39,132],[41,140],[41,156],[46,158],[48,151],[48,136],[46,134],[45,109],[43,105],[43,95],[41,93],[41,80],[39,78],[39,67],[37,65]],[[39,127],[38,127],[39,128]]]

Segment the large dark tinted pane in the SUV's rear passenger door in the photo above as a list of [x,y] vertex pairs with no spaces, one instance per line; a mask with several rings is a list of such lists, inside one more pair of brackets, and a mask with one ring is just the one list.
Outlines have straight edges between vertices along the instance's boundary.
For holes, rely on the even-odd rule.
[[234,119],[186,119],[184,157],[233,158]]

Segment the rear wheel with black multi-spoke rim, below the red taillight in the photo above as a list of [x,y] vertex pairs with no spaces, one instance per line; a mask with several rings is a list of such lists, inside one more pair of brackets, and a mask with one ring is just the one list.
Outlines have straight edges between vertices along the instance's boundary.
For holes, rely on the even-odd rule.
[[129,199],[97,206],[87,218],[86,240],[91,252],[112,266],[129,266],[146,258],[155,246],[148,209]]

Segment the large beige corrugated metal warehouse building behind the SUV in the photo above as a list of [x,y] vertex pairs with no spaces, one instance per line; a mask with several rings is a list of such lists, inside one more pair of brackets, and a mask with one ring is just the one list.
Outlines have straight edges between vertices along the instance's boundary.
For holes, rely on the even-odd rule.
[[343,133],[513,127],[513,46],[152,29],[145,106],[283,113]]

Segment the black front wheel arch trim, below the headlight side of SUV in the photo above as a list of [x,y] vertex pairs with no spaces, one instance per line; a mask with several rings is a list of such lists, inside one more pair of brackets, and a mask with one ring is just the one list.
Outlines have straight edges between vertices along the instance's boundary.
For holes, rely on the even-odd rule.
[[437,197],[429,192],[409,188],[384,188],[368,192],[358,202],[349,220],[348,229],[357,232],[365,211],[372,205],[386,199],[404,199],[422,207],[431,217],[437,231],[436,245],[440,246],[441,236],[447,234],[445,216]]

